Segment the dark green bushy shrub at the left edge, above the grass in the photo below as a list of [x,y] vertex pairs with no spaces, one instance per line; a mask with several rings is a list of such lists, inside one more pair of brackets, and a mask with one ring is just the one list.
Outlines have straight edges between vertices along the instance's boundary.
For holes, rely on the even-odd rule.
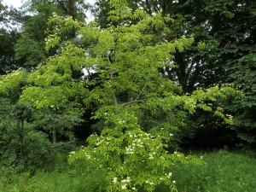
[[1,98],[1,166],[23,171],[53,160],[53,148],[48,138],[42,132],[34,131],[33,116],[29,105],[13,104]]

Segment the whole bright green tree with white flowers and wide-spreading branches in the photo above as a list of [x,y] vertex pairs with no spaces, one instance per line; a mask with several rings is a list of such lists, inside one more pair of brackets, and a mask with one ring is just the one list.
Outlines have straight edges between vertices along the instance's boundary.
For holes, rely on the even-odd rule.
[[[181,125],[175,122],[182,121],[185,111],[195,113],[196,108],[230,122],[221,108],[215,110],[207,102],[236,95],[236,90],[212,87],[182,95],[180,87],[159,69],[169,66],[172,53],[188,48],[193,38],[156,42],[154,32],[170,32],[166,24],[172,19],[139,9],[131,13],[125,1],[111,1],[110,5],[113,10],[108,20],[114,25],[102,30],[94,22],[84,26],[67,17],[56,16],[49,21],[55,27],[47,39],[47,49],[59,46],[62,32],[73,29],[77,41],[90,45],[62,44],[58,55],[29,75],[31,86],[23,90],[20,101],[31,101],[36,108],[67,108],[81,100],[86,108],[94,106],[92,118],[103,121],[102,131],[87,139],[88,146],[73,152],[70,162],[84,160],[98,169],[107,168],[108,190],[153,191],[162,184],[166,190],[175,191],[168,169],[173,163],[198,161],[168,145],[172,132]],[[73,76],[84,68],[96,70],[97,78]],[[153,118],[160,111],[166,113],[162,127],[147,127],[143,118],[148,111]],[[171,117],[174,125],[168,125]]]

